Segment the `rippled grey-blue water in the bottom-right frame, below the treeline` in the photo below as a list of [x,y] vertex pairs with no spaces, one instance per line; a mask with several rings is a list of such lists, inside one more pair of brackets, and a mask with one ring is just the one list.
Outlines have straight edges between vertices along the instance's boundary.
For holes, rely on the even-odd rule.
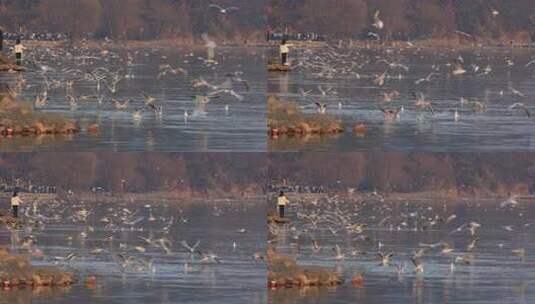
[[[336,207],[334,206],[336,205]],[[347,211],[347,223],[367,224],[362,234],[347,233],[345,220],[335,214]],[[313,226],[299,220],[301,214],[318,214]],[[457,217],[447,222],[455,214]],[[346,283],[336,288],[271,290],[269,303],[533,303],[535,264],[533,216],[535,208],[522,202],[517,208],[501,208],[496,202],[407,202],[361,204],[320,203],[317,207],[294,204],[295,228],[286,227],[274,238],[277,250],[294,254],[300,264],[320,265],[339,271]],[[431,225],[433,220],[438,220]],[[474,236],[463,226],[481,225]],[[511,226],[513,231],[504,227]],[[457,228],[464,227],[459,231]],[[306,229],[307,232],[303,232]],[[330,230],[336,231],[336,235]],[[363,239],[366,236],[368,239]],[[456,263],[455,257],[468,254],[468,244],[477,238],[472,265]],[[312,240],[322,249],[314,252]],[[410,261],[423,244],[447,242],[454,250],[442,253],[442,246],[427,249],[420,259],[422,274],[414,273]],[[382,247],[379,248],[379,244]],[[333,247],[339,245],[345,258],[335,260]],[[524,259],[512,253],[526,251]],[[355,253],[358,251],[359,253]],[[393,252],[389,266],[381,266],[377,252]],[[405,265],[398,275],[397,265]],[[351,277],[362,273],[364,287],[354,287]]]

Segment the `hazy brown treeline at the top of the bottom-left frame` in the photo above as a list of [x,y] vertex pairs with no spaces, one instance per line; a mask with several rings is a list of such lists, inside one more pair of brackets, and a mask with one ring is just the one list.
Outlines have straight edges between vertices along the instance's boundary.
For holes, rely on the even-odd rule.
[[58,191],[261,195],[267,184],[265,160],[265,155],[255,153],[2,154],[0,181],[47,185]]

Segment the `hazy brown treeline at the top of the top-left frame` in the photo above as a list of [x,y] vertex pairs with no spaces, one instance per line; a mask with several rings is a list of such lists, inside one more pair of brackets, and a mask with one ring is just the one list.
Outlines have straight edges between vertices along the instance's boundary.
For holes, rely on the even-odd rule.
[[[211,3],[239,10],[221,14]],[[73,38],[226,39],[262,37],[265,0],[0,0],[7,31],[65,33]]]

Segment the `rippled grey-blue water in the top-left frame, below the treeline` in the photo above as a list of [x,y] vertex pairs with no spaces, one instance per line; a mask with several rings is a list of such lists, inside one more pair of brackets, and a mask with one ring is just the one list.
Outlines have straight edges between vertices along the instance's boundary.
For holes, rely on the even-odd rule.
[[[2,74],[0,80],[14,86],[25,80],[23,98],[34,101],[50,84],[50,100],[42,111],[65,115],[77,120],[85,128],[90,124],[100,125],[98,136],[87,133],[69,137],[10,138],[0,143],[4,151],[265,151],[266,143],[266,75],[263,66],[262,48],[225,48],[216,50],[218,64],[204,61],[204,49],[153,50],[153,49],[111,49],[103,55],[96,49],[47,49],[30,51],[28,59],[38,62],[37,72],[20,75]],[[158,78],[159,66],[170,64],[181,67],[188,75],[173,75]],[[47,69],[46,73],[43,68]],[[116,92],[102,83],[97,91],[95,81],[85,79],[84,74],[97,68],[110,72],[120,71],[124,77]],[[78,71],[76,71],[78,70]],[[204,108],[196,107],[192,95],[207,93],[206,89],[195,89],[192,81],[203,77],[211,84],[225,81],[225,74],[242,72],[250,90],[234,84],[234,90],[243,96],[243,101],[222,94]],[[79,100],[72,108],[68,102],[65,81],[75,80],[73,93],[80,96],[104,96],[101,104],[96,98]],[[132,113],[144,107],[142,92],[156,98],[156,104],[163,107],[159,117],[146,110],[140,120]],[[132,99],[126,110],[117,110],[112,98],[119,101]],[[228,109],[225,109],[225,106]],[[184,112],[189,116],[184,118]]]

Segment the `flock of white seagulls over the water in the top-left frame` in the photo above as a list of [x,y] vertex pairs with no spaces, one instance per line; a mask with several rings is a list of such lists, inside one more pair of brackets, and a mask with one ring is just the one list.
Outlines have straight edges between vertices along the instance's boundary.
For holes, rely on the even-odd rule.
[[[250,90],[249,82],[241,71],[220,71],[221,65],[215,58],[217,44],[206,34],[202,37],[208,50],[206,58],[186,52],[180,54],[176,62],[171,62],[158,49],[117,50],[109,44],[110,41],[98,48],[82,41],[67,48],[29,49],[26,62],[30,71],[14,77],[9,84],[9,93],[26,99],[33,95],[36,108],[46,109],[66,103],[71,111],[97,108],[130,113],[134,121],[140,121],[147,113],[161,119],[167,112],[180,111],[187,121],[192,115],[204,116],[206,103],[216,99],[228,112],[230,103],[246,100],[243,94]],[[219,58],[225,60],[225,56],[222,51]],[[144,63],[146,58],[161,62],[156,63],[155,72],[156,67]],[[197,63],[200,67],[191,67]],[[140,67],[143,72],[139,71]],[[207,75],[193,75],[201,70]],[[31,80],[26,79],[28,74]],[[207,76],[215,81],[221,79],[221,82],[209,82]],[[151,89],[153,92],[139,90],[136,93],[133,81],[139,83],[139,77],[152,78],[160,84],[160,89],[156,87]],[[179,100],[181,106],[176,109],[171,108],[176,103],[170,103],[172,100],[165,97],[170,83],[191,92],[190,99]]]

